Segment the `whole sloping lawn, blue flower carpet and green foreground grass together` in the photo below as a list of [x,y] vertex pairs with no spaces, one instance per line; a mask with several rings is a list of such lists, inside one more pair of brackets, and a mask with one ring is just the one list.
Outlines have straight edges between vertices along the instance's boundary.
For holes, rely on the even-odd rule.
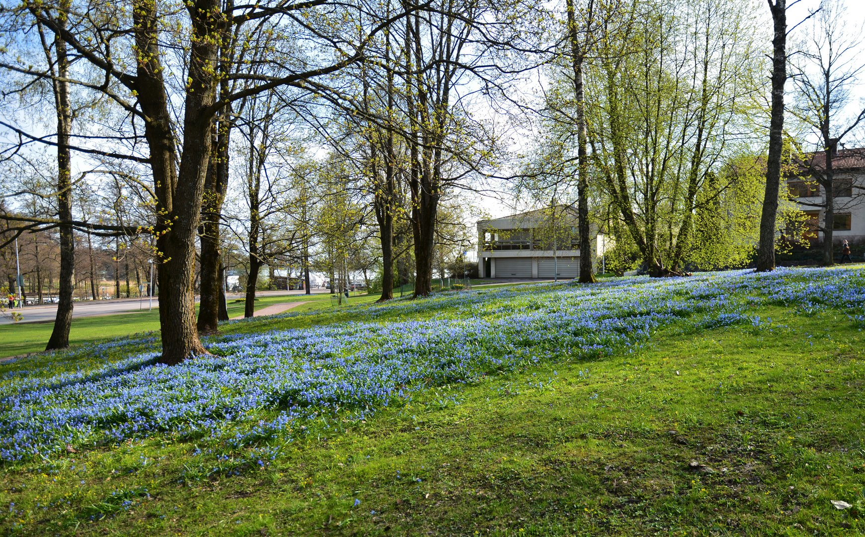
[[0,521],[861,534],[862,304],[862,269],[611,278],[227,323],[178,368],[152,338],[15,361]]

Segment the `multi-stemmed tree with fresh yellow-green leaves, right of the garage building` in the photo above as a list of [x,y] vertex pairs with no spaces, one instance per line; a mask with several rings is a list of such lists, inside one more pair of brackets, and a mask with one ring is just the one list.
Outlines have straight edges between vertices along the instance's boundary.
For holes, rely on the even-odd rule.
[[588,88],[593,167],[650,275],[680,273],[697,194],[753,112],[751,17],[730,0],[612,7]]

